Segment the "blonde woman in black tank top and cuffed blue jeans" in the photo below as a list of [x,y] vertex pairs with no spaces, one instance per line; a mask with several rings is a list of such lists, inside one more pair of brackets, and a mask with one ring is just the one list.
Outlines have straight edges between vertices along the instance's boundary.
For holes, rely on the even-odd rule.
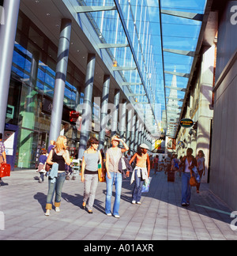
[[51,173],[48,178],[48,193],[46,204],[46,216],[50,215],[52,201],[55,194],[55,211],[60,212],[62,186],[66,179],[65,164],[70,165],[70,153],[67,150],[67,139],[60,135],[55,143],[55,149],[51,150],[47,156],[47,164],[52,165]]

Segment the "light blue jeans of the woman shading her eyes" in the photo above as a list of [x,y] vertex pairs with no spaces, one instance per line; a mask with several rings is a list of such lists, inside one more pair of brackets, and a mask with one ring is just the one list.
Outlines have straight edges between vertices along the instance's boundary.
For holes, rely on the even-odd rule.
[[119,215],[119,205],[120,198],[122,192],[122,174],[118,172],[111,172],[111,179],[107,178],[106,174],[106,182],[107,182],[107,195],[105,201],[105,213],[111,213],[111,198],[113,191],[113,184],[115,183],[115,203],[113,209],[113,215]]

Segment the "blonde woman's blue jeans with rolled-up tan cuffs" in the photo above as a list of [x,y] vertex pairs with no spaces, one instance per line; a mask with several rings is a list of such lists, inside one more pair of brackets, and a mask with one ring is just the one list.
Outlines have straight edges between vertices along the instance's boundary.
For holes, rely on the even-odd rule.
[[62,197],[62,186],[66,180],[65,172],[58,173],[55,183],[51,183],[51,179],[48,179],[48,192],[46,209],[52,209],[52,201],[55,194],[55,207],[59,207]]

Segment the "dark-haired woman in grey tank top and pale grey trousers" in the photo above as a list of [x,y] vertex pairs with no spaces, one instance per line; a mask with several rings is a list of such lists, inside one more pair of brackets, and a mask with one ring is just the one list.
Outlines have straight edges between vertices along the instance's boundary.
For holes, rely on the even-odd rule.
[[98,163],[103,160],[98,149],[99,141],[92,137],[88,140],[88,149],[85,150],[81,163],[81,182],[84,183],[84,198],[82,208],[85,209],[88,201],[88,213],[92,214],[92,208],[98,186]]

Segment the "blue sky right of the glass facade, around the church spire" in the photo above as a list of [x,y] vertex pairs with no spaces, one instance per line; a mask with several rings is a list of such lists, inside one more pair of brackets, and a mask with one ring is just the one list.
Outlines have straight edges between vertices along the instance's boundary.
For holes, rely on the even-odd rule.
[[[176,96],[179,99],[184,99],[185,92],[176,91],[171,92],[170,88],[165,89],[164,86],[171,87],[173,74],[163,74],[163,72],[174,72],[189,74],[193,65],[194,57],[186,55],[178,55],[171,52],[164,51],[164,59],[161,54],[161,32],[160,32],[160,9],[168,11],[179,11],[186,13],[200,13],[205,12],[206,0],[160,0],[160,9],[158,0],[147,0],[149,6],[149,19],[152,25],[152,41],[154,44],[154,51],[156,54],[156,65],[159,66],[160,73],[156,84],[156,91],[160,94],[158,99],[164,105],[168,106],[169,96]],[[201,29],[201,21],[194,21],[183,17],[176,17],[173,15],[161,14],[161,28],[163,49],[179,50],[179,51],[196,51],[198,37]],[[155,43],[154,43],[155,42]],[[164,62],[164,63],[163,63]],[[163,69],[164,64],[164,69]],[[186,88],[189,79],[186,77],[176,77],[176,86],[178,88]],[[182,101],[177,101],[175,104],[182,107]],[[167,110],[168,107],[167,107]],[[181,111],[181,109],[180,109]],[[169,111],[168,111],[169,112]],[[167,124],[170,119],[174,119],[173,114],[167,112]],[[163,115],[165,115],[163,111]],[[179,117],[179,115],[178,115]],[[178,121],[178,119],[177,119]],[[163,124],[164,126],[164,124]],[[170,133],[175,134],[175,132]]]

